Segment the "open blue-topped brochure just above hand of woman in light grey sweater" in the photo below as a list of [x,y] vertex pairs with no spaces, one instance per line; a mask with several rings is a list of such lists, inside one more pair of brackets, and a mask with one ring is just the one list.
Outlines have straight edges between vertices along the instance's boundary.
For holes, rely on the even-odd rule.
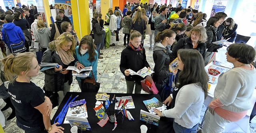
[[148,111],[154,115],[153,109],[158,109],[160,111],[166,110],[166,105],[164,105],[161,101],[159,101],[156,97],[153,97],[152,99],[145,100],[143,103],[146,105]]

